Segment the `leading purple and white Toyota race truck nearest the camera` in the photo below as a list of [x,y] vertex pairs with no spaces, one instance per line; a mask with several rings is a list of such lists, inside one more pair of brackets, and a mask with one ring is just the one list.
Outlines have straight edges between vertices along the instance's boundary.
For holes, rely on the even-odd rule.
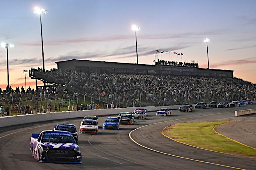
[[39,162],[82,163],[80,147],[67,131],[44,130],[40,134],[33,133],[30,151]]

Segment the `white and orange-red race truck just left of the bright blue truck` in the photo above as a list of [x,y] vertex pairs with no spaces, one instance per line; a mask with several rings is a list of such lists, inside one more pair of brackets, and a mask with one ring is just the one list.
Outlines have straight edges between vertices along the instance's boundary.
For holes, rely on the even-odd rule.
[[80,134],[98,134],[99,125],[96,120],[85,119],[79,128]]

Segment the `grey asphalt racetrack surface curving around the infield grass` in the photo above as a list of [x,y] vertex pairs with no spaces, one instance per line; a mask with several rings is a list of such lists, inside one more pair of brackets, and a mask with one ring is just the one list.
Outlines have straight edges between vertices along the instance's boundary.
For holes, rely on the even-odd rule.
[[[51,130],[54,128],[54,125],[58,123],[71,123],[79,128],[81,119],[48,121],[1,128],[0,169],[256,169],[255,158],[234,156],[194,148],[170,140],[161,134],[164,127],[175,123],[236,120],[235,122],[238,122],[239,127],[235,128],[235,130],[233,130],[232,127],[227,128],[228,130],[222,130],[225,133],[224,135],[234,138],[235,140],[240,140],[240,142],[246,142],[248,140],[246,144],[250,145],[251,143],[253,144],[253,142],[249,140],[255,140],[255,138],[247,139],[244,138],[243,135],[255,135],[255,121],[250,120],[255,120],[256,114],[234,117],[234,111],[253,109],[255,107],[256,104],[254,103],[253,105],[237,108],[193,109],[190,113],[174,110],[172,115],[168,117],[156,116],[155,112],[151,112],[148,113],[147,119],[136,120],[134,125],[121,125],[120,130],[100,129],[97,135],[79,134],[78,144],[82,151],[82,164],[41,163],[32,158],[29,149],[32,133],[40,133],[42,130]],[[106,117],[99,117],[99,125],[103,124],[105,118]],[[247,122],[251,124],[247,125]],[[254,127],[251,128],[252,126]],[[220,132],[221,128],[216,128],[216,130]],[[250,129],[252,131],[250,131]],[[242,131],[247,134],[243,134]],[[134,141],[130,138],[129,134]],[[239,138],[240,135],[242,136]]]

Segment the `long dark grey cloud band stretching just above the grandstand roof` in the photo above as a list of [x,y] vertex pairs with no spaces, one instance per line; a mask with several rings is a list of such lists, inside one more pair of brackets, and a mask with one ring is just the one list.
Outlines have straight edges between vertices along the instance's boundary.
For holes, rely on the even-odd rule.
[[[180,42],[176,45],[166,45],[161,49],[163,51],[169,51],[169,50],[180,50],[184,49],[186,47],[189,47],[190,44],[188,42]],[[156,47],[154,46],[148,46],[148,45],[138,45],[138,55],[146,56],[146,55],[154,55],[156,52]],[[180,51],[177,51],[180,52]],[[85,52],[79,52],[79,51],[71,51],[67,53],[66,55],[60,55],[58,57],[50,56],[45,57],[44,63],[46,64],[55,64],[56,61],[64,61],[64,60],[70,60],[70,59],[120,59],[120,58],[129,58],[136,56],[136,46],[130,45],[126,47],[117,47],[117,49],[112,51],[85,51]],[[2,62],[0,63],[0,66],[4,66],[6,63]],[[42,65],[42,58],[41,57],[33,57],[33,58],[16,58],[16,59],[9,59],[9,66],[17,65],[17,66],[26,66],[26,67],[37,67],[38,65]],[[40,67],[40,66],[39,66]],[[0,70],[1,71],[1,70]]]

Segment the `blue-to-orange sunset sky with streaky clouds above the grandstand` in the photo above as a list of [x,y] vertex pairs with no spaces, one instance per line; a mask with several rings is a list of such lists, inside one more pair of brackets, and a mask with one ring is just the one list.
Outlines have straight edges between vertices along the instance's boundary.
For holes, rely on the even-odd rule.
[[[256,83],[256,0],[8,0],[0,3],[0,43],[8,48],[10,86],[25,87],[25,73],[42,67],[42,15],[45,69],[56,61],[84,59],[151,64],[159,59],[234,70],[234,77]],[[175,57],[173,57],[175,56]],[[0,47],[0,87],[7,86],[6,49]],[[35,80],[26,73],[26,86]],[[38,82],[40,85],[40,82]]]

